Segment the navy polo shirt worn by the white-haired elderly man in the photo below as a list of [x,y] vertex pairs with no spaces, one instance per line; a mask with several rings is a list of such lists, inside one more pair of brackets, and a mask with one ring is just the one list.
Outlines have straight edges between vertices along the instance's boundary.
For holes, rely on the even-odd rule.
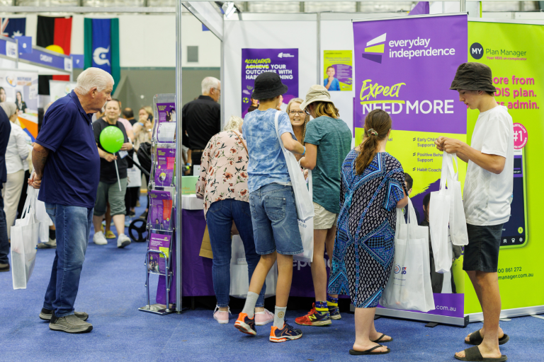
[[100,156],[91,115],[85,113],[74,91],[49,107],[36,143],[49,149],[38,199],[50,204],[93,208]]

